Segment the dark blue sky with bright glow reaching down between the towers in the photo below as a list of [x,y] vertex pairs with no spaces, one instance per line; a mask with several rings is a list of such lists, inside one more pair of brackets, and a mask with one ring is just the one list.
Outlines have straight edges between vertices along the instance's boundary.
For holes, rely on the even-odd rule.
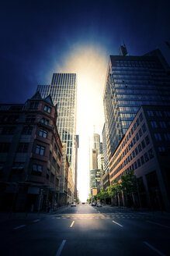
[[[0,103],[23,103],[53,73],[78,73],[78,191],[88,197],[88,136],[102,134],[109,55],[125,41],[143,55],[170,41],[169,1],[71,0],[0,3]],[[102,140],[102,139],[101,139]]]

